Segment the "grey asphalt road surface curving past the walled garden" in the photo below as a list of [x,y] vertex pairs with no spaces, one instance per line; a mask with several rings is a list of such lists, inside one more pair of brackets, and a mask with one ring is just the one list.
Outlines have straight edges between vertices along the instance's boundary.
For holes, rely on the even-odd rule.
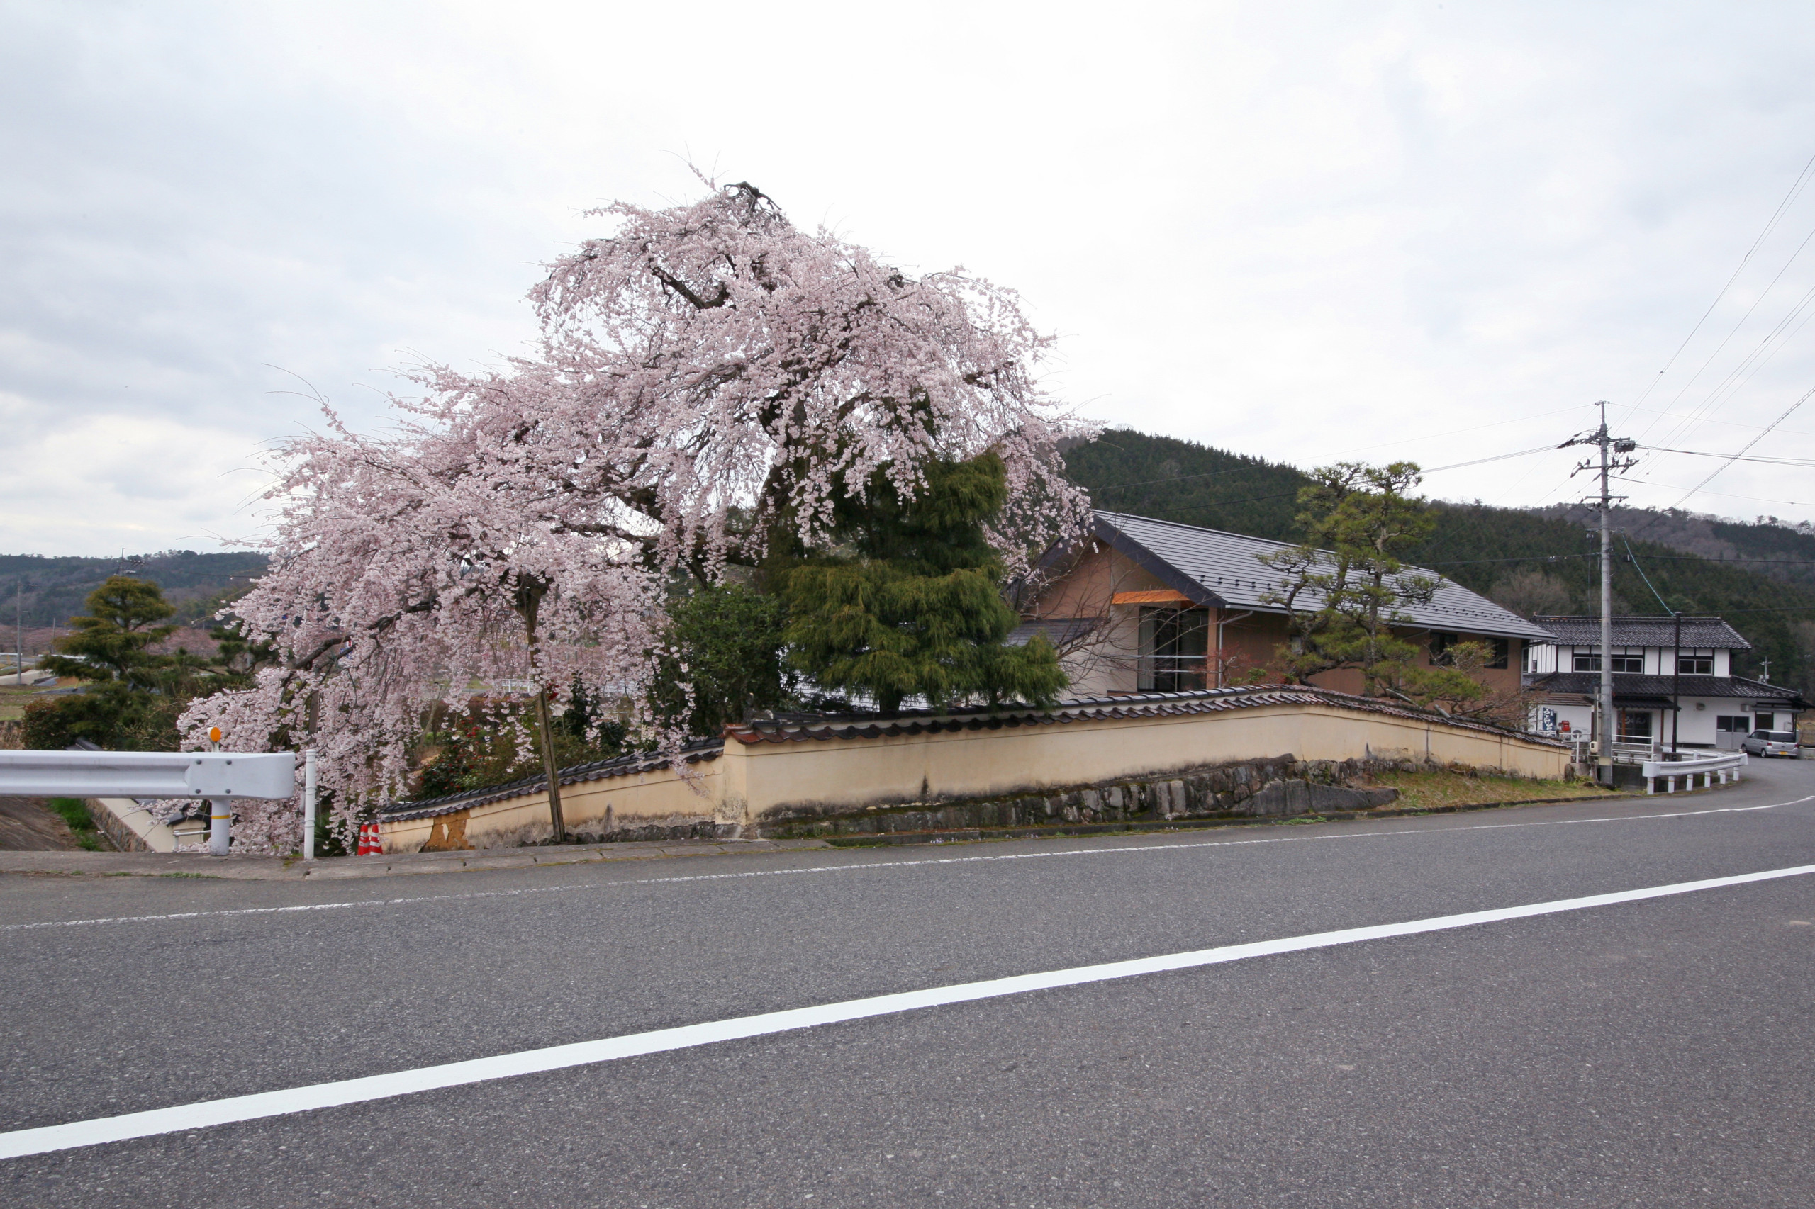
[[[0,1131],[1815,864],[1815,762],[1750,773],[1163,837],[4,877]],[[1811,958],[1788,877],[34,1155],[0,1202],[1810,1205]]]

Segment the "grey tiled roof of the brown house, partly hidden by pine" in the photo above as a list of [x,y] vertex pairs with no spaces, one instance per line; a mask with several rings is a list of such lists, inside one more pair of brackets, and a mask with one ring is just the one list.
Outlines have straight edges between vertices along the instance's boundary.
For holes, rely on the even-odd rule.
[[[1270,590],[1280,586],[1280,577],[1265,563],[1256,561],[1256,555],[1290,550],[1290,543],[1156,521],[1125,512],[1098,512],[1096,536],[1200,604],[1285,612],[1283,606],[1263,601]],[[1457,634],[1552,641],[1548,630],[1443,579],[1434,570],[1407,566],[1405,572],[1430,575],[1439,583],[1428,604],[1407,604],[1399,610],[1412,619],[1412,624]]]

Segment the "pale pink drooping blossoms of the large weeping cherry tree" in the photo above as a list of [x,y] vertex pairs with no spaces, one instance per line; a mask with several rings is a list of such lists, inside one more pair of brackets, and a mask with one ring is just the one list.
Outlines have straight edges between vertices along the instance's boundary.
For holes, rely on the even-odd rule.
[[506,679],[635,715],[664,585],[760,559],[779,526],[815,545],[877,470],[911,496],[927,457],[996,450],[1011,572],[1087,517],[1056,452],[1084,427],[1011,290],[908,276],[748,183],[594,214],[615,231],[530,292],[534,356],[428,367],[397,434],[330,414],[281,450],[270,572],[234,612],[283,659],[185,721],[250,750],[310,735],[343,822],[405,786],[434,699]]

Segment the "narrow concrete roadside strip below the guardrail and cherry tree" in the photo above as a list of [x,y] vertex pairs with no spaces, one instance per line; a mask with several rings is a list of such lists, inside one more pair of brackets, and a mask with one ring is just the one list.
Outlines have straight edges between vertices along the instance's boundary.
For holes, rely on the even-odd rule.
[[824,840],[661,840],[630,844],[559,844],[546,848],[481,848],[476,851],[417,851],[396,857],[211,857],[194,851],[0,851],[0,873],[89,877],[223,877],[236,880],[341,880],[401,877],[405,873],[461,873],[466,870],[523,870],[543,864],[597,860],[661,860],[668,857],[728,857],[751,851],[829,848]]

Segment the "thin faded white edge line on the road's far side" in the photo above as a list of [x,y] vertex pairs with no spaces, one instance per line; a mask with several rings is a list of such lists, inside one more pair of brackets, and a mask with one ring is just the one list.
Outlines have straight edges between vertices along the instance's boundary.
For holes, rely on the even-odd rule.
[[472,890],[457,895],[416,895],[405,899],[350,899],[347,902],[309,902],[281,908],[231,908],[223,911],[174,911],[171,915],[111,915],[103,919],[53,919],[36,924],[0,924],[0,933],[36,931],[42,928],[91,928],[96,924],[154,924],[172,919],[225,919],[232,915],[289,915],[296,911],[350,911],[356,908],[403,906],[410,902],[459,902],[465,899],[515,899],[519,895],[550,895],[568,890],[610,890],[617,886],[664,886],[672,882],[722,882],[741,877],[790,877],[797,873],[853,873],[858,870],[911,870],[933,864],[976,864],[986,860],[1040,860],[1045,857],[1114,857],[1134,851],[1180,851],[1187,848],[1249,848],[1252,844],[1305,844],[1312,840],[1392,839],[1398,835],[1432,835],[1445,831],[1505,831],[1514,828],[1561,828],[1579,822],[1643,822],[1646,819],[1690,819],[1695,815],[1742,815],[1753,810],[1777,810],[1815,802],[1815,793],[1788,802],[1764,806],[1717,806],[1713,810],[1677,810],[1661,815],[1606,815],[1597,819],[1535,819],[1530,822],[1470,822],[1450,828],[1398,828],[1392,831],[1343,831],[1341,835],[1274,835],[1251,840],[1185,840],[1174,844],[1123,844],[1118,848],[1060,848],[1055,851],[1009,851],[989,857],[924,857],[917,860],[866,860],[860,864],[811,864],[793,870],[744,870],[741,873],[682,873],[677,877],[637,877],[621,882],[561,882],[559,886],[521,886],[517,890]]

